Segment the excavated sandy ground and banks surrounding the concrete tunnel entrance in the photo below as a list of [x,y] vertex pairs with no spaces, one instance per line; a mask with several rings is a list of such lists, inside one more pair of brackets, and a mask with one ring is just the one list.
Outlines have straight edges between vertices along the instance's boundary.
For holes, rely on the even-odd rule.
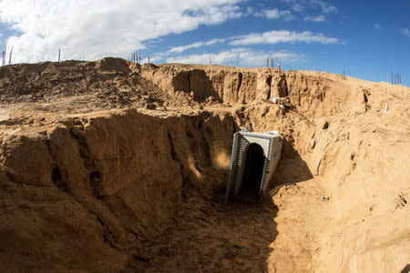
[[[1,67],[0,103],[1,268],[399,272],[410,261],[408,87],[106,58]],[[262,204],[225,207],[242,126],[278,130],[282,158]]]

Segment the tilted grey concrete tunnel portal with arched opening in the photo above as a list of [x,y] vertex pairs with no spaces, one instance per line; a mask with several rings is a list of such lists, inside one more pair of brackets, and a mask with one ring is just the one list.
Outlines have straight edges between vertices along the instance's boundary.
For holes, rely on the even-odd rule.
[[225,204],[230,197],[261,202],[267,183],[278,165],[282,136],[276,131],[233,135],[231,166]]

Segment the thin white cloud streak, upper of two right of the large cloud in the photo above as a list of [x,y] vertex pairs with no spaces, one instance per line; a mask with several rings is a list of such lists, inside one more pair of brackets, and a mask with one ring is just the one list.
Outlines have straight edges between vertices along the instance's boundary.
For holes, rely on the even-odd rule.
[[289,30],[272,30],[264,33],[254,33],[234,37],[231,45],[256,45],[278,43],[322,43],[337,44],[337,38],[326,37],[323,34],[313,34],[310,31],[295,32]]

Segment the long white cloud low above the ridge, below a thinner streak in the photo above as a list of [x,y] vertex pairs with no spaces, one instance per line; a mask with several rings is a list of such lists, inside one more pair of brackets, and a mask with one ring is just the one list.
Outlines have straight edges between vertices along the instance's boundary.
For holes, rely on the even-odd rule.
[[289,51],[264,52],[255,51],[251,48],[232,48],[219,53],[197,54],[189,56],[169,57],[167,63],[182,64],[212,64],[226,66],[265,66],[266,58],[273,58],[275,63],[295,63],[302,61],[302,56]]

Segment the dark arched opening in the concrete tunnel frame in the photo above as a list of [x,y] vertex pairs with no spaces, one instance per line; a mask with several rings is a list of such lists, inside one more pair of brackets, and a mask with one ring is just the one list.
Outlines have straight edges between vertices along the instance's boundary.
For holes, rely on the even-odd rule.
[[255,199],[259,196],[264,162],[263,149],[259,144],[252,143],[246,148],[242,187],[239,197]]

